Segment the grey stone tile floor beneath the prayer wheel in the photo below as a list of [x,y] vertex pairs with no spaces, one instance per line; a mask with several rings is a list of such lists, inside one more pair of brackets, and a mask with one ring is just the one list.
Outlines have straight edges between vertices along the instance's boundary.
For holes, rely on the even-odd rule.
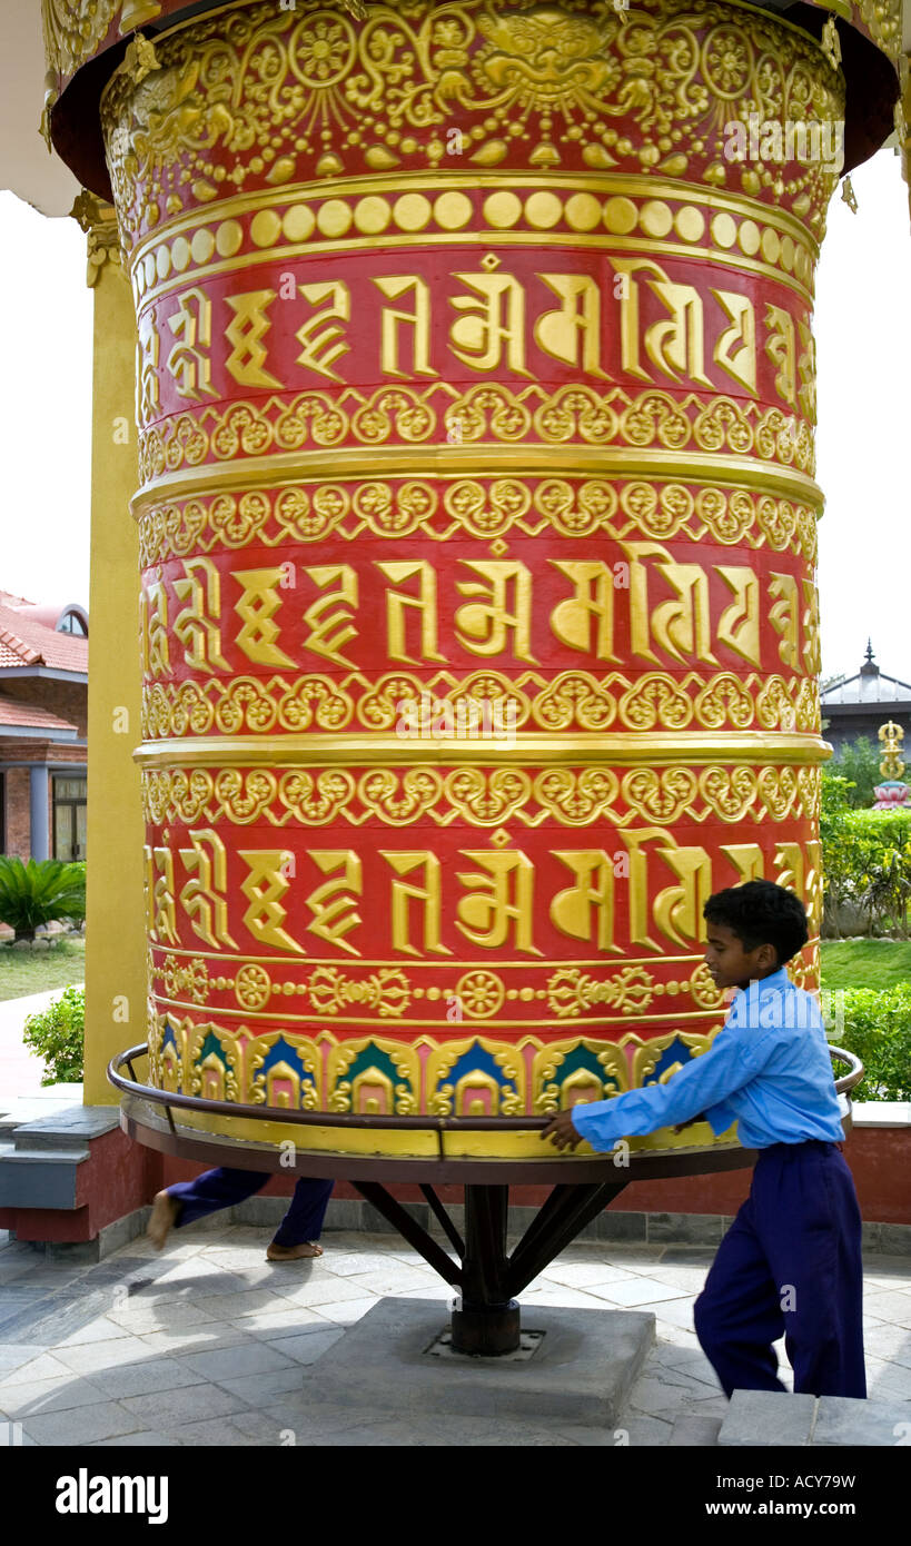
[[[377,1297],[439,1299],[442,1328],[452,1289],[394,1235],[331,1232],[319,1260],[268,1263],[271,1235],[207,1220],[172,1234],[162,1254],[141,1238],[76,1266],[0,1234],[0,1424],[20,1424],[12,1433],[26,1446],[623,1442],[616,1430],[538,1427],[506,1413],[428,1424],[314,1410],[308,1368]],[[667,1444],[677,1419],[727,1410],[693,1333],[713,1254],[583,1241],[521,1296],[526,1325],[535,1303],[654,1313],[656,1345],[622,1419],[630,1444]],[[911,1404],[911,1260],[868,1255],[865,1266],[869,1394]]]

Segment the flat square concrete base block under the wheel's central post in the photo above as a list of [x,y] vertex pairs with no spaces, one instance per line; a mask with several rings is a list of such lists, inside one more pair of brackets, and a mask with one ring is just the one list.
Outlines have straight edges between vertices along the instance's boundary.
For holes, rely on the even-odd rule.
[[651,1314],[523,1305],[523,1330],[544,1333],[527,1362],[432,1357],[447,1320],[435,1300],[380,1299],[314,1367],[314,1407],[614,1424],[654,1342]]

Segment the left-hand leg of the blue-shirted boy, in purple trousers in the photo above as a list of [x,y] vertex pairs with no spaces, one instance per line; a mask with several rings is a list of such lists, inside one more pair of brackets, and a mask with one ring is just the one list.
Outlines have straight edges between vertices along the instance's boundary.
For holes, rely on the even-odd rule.
[[752,1190],[718,1248],[693,1320],[725,1396],[735,1390],[784,1390],[772,1348],[784,1331],[784,1316],[756,1234]]

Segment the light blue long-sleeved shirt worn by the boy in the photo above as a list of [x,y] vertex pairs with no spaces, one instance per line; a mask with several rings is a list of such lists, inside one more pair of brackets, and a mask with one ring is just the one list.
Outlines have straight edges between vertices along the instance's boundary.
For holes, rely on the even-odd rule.
[[736,1122],[746,1149],[844,1138],[821,1014],[784,968],[738,989],[708,1051],[667,1084],[574,1105],[572,1125],[608,1150],[702,1113],[716,1136]]

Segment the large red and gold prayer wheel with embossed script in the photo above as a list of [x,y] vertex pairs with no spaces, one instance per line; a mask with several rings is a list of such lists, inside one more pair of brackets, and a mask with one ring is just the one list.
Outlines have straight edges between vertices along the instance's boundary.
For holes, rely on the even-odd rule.
[[664,1079],[722,1019],[702,904],[756,877],[815,986],[814,271],[897,80],[800,12],[82,8],[60,142],[145,23],[101,122],[161,1088],[517,1116]]

